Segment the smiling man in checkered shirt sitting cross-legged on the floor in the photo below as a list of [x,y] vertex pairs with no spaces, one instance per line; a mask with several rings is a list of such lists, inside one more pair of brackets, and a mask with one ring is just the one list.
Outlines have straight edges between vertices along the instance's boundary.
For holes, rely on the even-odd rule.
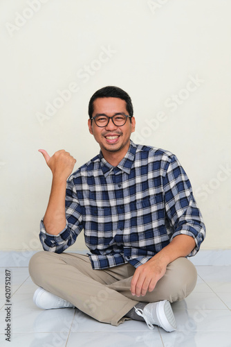
[[[136,319],[170,332],[176,330],[170,303],[196,285],[187,256],[197,253],[205,226],[176,156],[133,144],[135,124],[129,95],[104,87],[89,102],[89,131],[100,155],[71,175],[69,153],[50,158],[39,150],[53,182],[39,234],[45,252],[29,264],[39,286],[34,302],[44,309],[77,307],[112,325]],[[91,253],[63,253],[82,229]]]

